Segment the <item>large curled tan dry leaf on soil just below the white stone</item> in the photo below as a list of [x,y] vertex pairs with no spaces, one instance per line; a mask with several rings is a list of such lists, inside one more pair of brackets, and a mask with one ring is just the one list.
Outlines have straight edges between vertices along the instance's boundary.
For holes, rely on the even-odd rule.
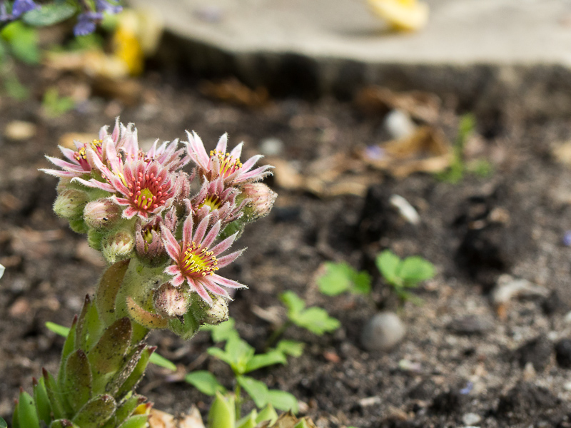
[[450,143],[443,133],[430,126],[418,128],[412,136],[371,146],[360,151],[365,163],[386,170],[398,178],[411,173],[438,173],[452,160]]

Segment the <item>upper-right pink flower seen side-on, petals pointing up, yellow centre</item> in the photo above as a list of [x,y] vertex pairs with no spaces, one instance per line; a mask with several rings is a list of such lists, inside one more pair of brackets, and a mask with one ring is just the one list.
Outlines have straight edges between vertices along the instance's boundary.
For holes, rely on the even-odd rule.
[[241,163],[240,155],[242,153],[243,143],[238,144],[230,153],[226,152],[228,143],[228,134],[221,136],[216,145],[216,149],[210,154],[206,153],[204,144],[195,132],[188,134],[188,156],[196,163],[200,175],[207,181],[212,181],[217,177],[221,177],[224,183],[228,185],[239,185],[251,181],[258,181],[270,175],[270,165],[264,165],[253,169],[256,162],[262,158],[261,155],[252,156],[245,163]]

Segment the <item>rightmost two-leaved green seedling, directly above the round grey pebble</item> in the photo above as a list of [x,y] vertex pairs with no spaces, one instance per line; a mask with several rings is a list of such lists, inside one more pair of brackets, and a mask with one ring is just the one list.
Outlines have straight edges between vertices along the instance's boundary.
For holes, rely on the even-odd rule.
[[406,288],[418,287],[420,282],[434,276],[433,264],[416,255],[401,260],[392,251],[385,250],[377,256],[375,263],[385,280],[394,287],[402,300],[413,298],[405,291]]

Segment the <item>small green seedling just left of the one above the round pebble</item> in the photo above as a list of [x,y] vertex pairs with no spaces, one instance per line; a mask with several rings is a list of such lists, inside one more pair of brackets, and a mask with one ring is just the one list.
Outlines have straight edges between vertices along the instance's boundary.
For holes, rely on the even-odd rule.
[[343,292],[368,295],[370,293],[370,275],[353,269],[347,263],[324,264],[325,272],[317,279],[319,291],[324,295],[336,296]]

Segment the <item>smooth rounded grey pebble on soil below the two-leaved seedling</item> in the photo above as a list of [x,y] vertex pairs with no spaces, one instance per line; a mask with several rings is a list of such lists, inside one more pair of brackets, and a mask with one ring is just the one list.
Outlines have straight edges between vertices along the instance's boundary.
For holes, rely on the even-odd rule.
[[379,312],[363,328],[361,345],[369,351],[388,351],[403,337],[406,328],[394,312]]

